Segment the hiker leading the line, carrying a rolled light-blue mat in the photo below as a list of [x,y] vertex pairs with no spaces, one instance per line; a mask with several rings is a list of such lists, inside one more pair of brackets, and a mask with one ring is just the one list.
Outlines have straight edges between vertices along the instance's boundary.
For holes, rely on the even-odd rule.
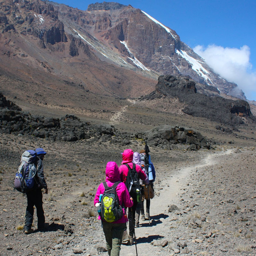
[[[145,165],[145,155],[146,152],[144,149],[140,150],[140,164],[142,166],[146,166]],[[155,167],[152,164],[152,162],[150,161],[151,164],[151,168],[152,168],[152,176],[153,179],[149,180],[149,184],[148,185],[144,185],[143,189],[142,189],[142,199],[141,199],[141,220],[150,220],[150,212],[149,212],[149,208],[150,208],[150,199],[152,199],[155,195],[154,195],[154,188],[153,188],[153,182],[156,179],[156,172],[155,172]],[[146,199],[146,214],[144,212],[144,199]]]

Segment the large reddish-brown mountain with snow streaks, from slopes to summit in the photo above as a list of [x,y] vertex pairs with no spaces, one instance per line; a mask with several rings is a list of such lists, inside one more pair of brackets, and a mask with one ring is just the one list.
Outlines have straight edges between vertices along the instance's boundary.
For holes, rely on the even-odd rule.
[[131,5],[103,2],[81,11],[49,1],[1,0],[0,31],[0,74],[24,82],[24,88],[61,90],[65,84],[138,97],[138,88],[139,95],[155,89],[159,75],[181,74],[224,96],[245,99],[174,30]]

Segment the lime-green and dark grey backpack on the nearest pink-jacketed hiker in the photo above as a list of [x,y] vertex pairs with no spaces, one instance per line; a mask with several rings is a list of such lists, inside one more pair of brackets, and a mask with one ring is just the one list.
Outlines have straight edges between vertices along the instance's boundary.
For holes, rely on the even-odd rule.
[[121,181],[116,181],[112,187],[108,187],[107,182],[104,181],[103,185],[105,191],[101,197],[101,216],[107,222],[120,220],[124,215],[123,208],[120,205],[119,198],[116,193],[116,186]]

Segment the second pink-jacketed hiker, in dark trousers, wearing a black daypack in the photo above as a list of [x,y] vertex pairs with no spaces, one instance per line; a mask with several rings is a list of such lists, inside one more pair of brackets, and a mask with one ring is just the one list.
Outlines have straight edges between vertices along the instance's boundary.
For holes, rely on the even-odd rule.
[[[123,236],[123,242],[127,241],[127,238],[130,241],[130,244],[133,244],[133,237],[134,237],[134,227],[135,227],[135,212],[136,212],[136,207],[137,207],[137,196],[136,196],[136,189],[134,193],[134,188],[130,188],[130,184],[128,184],[131,179],[131,175],[134,172],[133,178],[134,178],[134,183],[137,184],[138,188],[140,189],[140,181],[144,180],[146,184],[148,184],[147,176],[146,174],[141,170],[140,165],[138,164],[133,164],[133,151],[132,149],[125,149],[124,152],[122,153],[122,164],[119,166],[119,173],[120,173],[120,178],[121,181],[123,181],[128,188],[128,191],[131,190],[130,196],[133,198],[133,206],[128,209],[128,220],[129,220],[129,235],[127,234],[127,231],[124,231],[124,236]],[[129,168],[128,168],[129,166]],[[133,192],[132,192],[133,191]]]

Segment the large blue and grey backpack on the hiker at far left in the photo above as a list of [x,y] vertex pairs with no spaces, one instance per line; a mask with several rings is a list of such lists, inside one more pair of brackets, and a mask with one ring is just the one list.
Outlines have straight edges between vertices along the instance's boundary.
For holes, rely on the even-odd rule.
[[19,192],[26,193],[27,190],[34,187],[36,157],[36,151],[34,150],[27,150],[21,156],[20,165],[14,179],[14,188]]

